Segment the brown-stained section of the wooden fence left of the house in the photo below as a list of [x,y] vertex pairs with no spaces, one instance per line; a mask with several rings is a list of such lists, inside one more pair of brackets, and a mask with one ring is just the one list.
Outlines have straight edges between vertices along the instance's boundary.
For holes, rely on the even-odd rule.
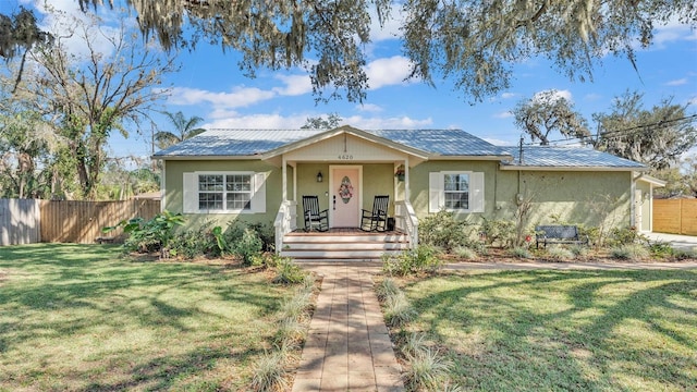
[[41,200],[41,242],[91,244],[101,229],[136,217],[150,219],[160,212],[159,200],[54,201]]

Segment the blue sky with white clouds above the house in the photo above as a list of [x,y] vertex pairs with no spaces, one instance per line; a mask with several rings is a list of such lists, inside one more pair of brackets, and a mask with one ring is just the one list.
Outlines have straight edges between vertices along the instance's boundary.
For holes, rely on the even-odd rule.
[[[34,2],[0,0],[0,10]],[[51,3],[69,13],[80,12],[77,0]],[[462,128],[500,145],[516,144],[521,137],[510,113],[515,105],[549,89],[571,99],[589,121],[592,113],[609,111],[613,98],[626,90],[645,94],[647,107],[673,97],[675,103],[692,103],[689,113],[697,111],[697,32],[677,23],[657,28],[655,45],[637,50],[638,73],[628,60],[606,57],[595,69],[594,81],[580,83],[570,81],[545,59],[529,59],[515,65],[509,90],[475,105],[448,81],[436,81],[435,88],[404,82],[408,63],[398,34],[396,25],[376,28],[366,47],[370,89],[363,105],[346,100],[316,105],[309,77],[302,70],[259,70],[256,78],[247,78],[237,69],[235,53],[199,44],[194,52],[179,54],[180,72],[166,76],[172,94],[162,106],[170,112],[201,117],[204,127],[297,128],[308,117],[338,113],[342,123],[359,128]],[[167,128],[159,119],[158,125]],[[148,140],[148,135],[132,132],[129,139],[112,137],[110,147],[117,156],[147,156]]]

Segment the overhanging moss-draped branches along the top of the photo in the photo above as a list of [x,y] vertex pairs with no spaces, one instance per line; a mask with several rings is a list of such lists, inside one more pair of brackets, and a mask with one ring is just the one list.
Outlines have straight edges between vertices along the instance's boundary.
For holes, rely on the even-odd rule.
[[[84,8],[102,3],[78,1]],[[331,97],[343,91],[348,100],[358,101],[368,87],[363,48],[370,39],[371,17],[380,24],[399,19],[412,77],[429,84],[452,79],[456,89],[475,100],[508,88],[513,64],[525,59],[546,57],[571,78],[592,79],[592,69],[608,53],[626,57],[636,68],[634,48],[652,44],[656,25],[669,21],[697,25],[694,0],[127,3],[145,36],[157,35],[164,48],[207,39],[241,52],[239,65],[250,76],[260,66],[306,68],[316,94],[333,87]]]

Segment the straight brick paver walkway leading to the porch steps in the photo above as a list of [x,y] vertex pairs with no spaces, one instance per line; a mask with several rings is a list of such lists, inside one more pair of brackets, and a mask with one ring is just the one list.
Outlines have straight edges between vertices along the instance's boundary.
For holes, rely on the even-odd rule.
[[303,264],[323,277],[293,391],[404,391],[365,262]]

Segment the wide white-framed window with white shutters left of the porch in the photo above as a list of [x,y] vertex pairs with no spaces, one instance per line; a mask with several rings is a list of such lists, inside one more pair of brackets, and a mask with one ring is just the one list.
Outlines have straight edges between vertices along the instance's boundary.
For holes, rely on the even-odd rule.
[[184,212],[266,212],[265,173],[184,173]]

